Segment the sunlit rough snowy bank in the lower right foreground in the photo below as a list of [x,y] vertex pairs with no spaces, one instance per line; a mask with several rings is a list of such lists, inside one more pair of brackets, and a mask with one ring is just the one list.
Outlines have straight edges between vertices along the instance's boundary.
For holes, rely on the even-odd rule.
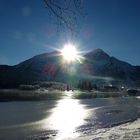
[[90,135],[69,140],[140,140],[140,119],[112,128],[98,129]]

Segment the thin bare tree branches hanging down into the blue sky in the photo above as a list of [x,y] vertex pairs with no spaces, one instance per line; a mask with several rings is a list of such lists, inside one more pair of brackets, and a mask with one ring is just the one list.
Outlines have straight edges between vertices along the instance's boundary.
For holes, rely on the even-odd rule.
[[56,18],[58,29],[66,27],[72,34],[76,32],[79,18],[84,17],[83,0],[44,0],[45,6]]

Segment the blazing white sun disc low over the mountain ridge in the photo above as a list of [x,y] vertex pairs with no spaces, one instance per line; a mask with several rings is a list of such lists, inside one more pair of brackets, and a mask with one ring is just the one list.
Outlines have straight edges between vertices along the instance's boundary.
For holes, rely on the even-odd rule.
[[61,50],[61,55],[67,62],[75,61],[78,58],[78,51],[76,46],[72,44],[65,44]]

